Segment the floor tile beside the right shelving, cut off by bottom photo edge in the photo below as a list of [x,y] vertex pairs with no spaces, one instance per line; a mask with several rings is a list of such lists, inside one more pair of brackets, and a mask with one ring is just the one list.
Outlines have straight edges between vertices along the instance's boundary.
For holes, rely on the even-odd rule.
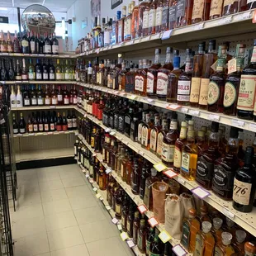
[[[125,242],[124,242],[125,243]],[[111,237],[86,244],[90,256],[127,256],[119,237]]]

